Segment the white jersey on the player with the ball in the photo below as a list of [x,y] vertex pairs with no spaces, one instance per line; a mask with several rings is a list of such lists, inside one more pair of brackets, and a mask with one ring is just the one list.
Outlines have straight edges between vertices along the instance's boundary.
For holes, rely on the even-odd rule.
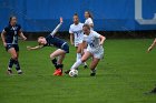
[[99,49],[103,49],[103,45],[100,45],[100,34],[96,31],[90,31],[89,35],[84,35],[84,41],[88,43],[88,49],[91,51],[98,51]]

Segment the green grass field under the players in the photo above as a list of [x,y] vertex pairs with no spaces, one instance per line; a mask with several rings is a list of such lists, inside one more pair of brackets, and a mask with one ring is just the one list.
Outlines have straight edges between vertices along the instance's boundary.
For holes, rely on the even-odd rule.
[[[97,76],[79,68],[78,78],[53,76],[49,54],[53,48],[27,51],[33,41],[20,42],[20,63],[25,74],[6,74],[9,54],[0,42],[0,103],[156,103],[145,95],[156,84],[156,49],[146,53],[153,40],[107,40],[105,59]],[[66,56],[65,70],[75,62],[75,48]],[[89,63],[89,61],[88,61]]]

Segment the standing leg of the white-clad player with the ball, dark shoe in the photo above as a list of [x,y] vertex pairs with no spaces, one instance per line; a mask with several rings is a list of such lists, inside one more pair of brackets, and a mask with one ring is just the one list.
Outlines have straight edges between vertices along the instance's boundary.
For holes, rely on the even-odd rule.
[[92,58],[92,61],[90,63],[90,70],[91,70],[90,76],[95,76],[96,75],[96,66],[97,66],[99,61],[100,61],[100,59]]

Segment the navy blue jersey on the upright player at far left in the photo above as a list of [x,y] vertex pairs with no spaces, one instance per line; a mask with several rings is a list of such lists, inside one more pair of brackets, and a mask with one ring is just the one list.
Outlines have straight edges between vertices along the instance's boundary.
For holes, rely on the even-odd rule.
[[4,28],[6,34],[6,42],[8,44],[18,44],[18,33],[20,31],[21,27],[19,24],[16,24],[14,27],[8,25]]

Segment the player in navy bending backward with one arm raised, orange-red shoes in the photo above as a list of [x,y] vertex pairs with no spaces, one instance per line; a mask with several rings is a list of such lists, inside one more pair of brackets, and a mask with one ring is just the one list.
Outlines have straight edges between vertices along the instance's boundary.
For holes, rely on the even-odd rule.
[[[48,37],[38,38],[39,45],[33,47],[33,48],[27,47],[28,50],[38,50],[38,49],[41,49],[45,47],[52,47],[52,45],[58,48],[55,52],[52,52],[50,54],[51,62],[56,68],[53,75],[62,75],[62,68],[64,68],[62,61],[65,59],[66,53],[69,53],[69,47],[68,47],[67,42],[55,37],[55,34],[57,33],[57,31],[59,30],[61,24],[62,24],[62,18],[60,18],[60,23],[56,27],[56,29]],[[58,59],[56,59],[56,58],[58,58]]]

